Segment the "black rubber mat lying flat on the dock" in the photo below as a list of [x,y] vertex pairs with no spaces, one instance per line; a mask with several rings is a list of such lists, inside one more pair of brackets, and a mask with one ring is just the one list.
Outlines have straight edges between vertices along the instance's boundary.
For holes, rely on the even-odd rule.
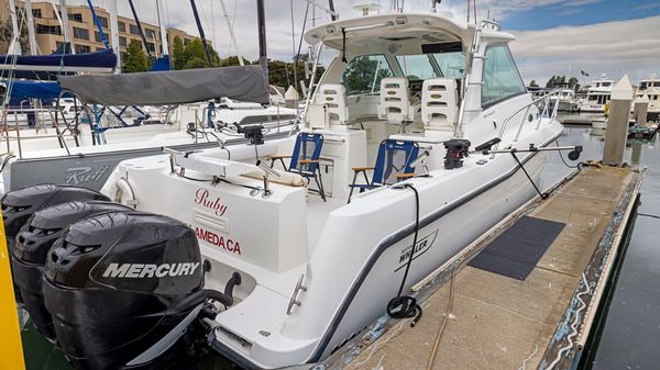
[[564,226],[559,222],[524,216],[476,255],[468,266],[525,280]]

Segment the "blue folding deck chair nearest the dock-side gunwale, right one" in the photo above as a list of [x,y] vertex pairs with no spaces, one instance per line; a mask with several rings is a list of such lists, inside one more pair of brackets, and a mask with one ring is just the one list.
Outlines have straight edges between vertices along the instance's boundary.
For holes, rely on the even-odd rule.
[[[349,203],[353,191],[393,184],[404,179],[416,176],[413,161],[417,159],[419,146],[415,142],[398,142],[395,139],[385,139],[378,146],[378,156],[376,157],[375,167],[353,167],[353,182],[351,183],[351,193],[349,194]],[[370,181],[366,171],[373,170],[373,176]],[[355,183],[358,176],[364,175],[366,183]]]

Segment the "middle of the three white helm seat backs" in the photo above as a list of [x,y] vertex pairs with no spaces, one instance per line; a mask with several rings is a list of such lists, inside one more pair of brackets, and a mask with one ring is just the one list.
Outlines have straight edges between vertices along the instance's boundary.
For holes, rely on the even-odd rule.
[[405,77],[388,77],[381,80],[381,105],[378,117],[388,123],[413,121],[408,79]]

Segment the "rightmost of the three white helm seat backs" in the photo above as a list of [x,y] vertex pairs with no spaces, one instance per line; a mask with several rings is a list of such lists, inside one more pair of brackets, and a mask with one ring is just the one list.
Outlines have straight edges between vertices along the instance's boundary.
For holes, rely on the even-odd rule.
[[421,88],[421,121],[425,131],[453,131],[459,114],[457,81],[433,78]]

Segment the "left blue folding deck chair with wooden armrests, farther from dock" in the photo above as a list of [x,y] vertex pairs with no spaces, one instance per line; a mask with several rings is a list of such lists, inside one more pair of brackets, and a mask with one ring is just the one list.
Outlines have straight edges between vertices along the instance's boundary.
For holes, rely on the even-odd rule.
[[[321,148],[323,147],[323,135],[316,133],[300,133],[296,137],[296,145],[290,156],[270,156],[271,167],[279,160],[286,171],[295,172],[307,179],[309,182],[315,179],[319,189],[319,194],[326,201],[326,190],[323,189],[323,179],[320,171]],[[290,158],[288,168],[284,162],[285,158]]]

